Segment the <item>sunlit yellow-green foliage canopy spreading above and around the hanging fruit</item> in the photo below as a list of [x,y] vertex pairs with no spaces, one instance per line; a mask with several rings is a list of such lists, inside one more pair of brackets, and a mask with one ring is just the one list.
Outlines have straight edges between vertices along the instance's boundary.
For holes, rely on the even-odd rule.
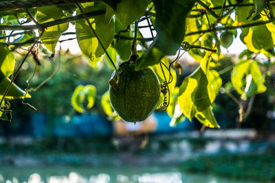
[[[140,48],[135,69],[151,66],[159,81],[168,83],[168,96],[163,98],[169,99],[167,112],[174,125],[183,117],[190,120],[195,117],[206,127],[219,127],[212,108],[220,90],[238,104],[241,99],[248,100],[267,90],[266,81],[275,56],[274,8],[272,0],[102,0],[1,11],[1,109],[9,111],[8,99],[30,97],[31,90],[21,90],[14,84],[25,62],[24,59],[16,68],[15,52],[26,56],[31,53],[35,58],[38,45],[42,44],[52,52],[53,58],[60,37],[72,34],[91,66],[96,67],[102,60],[113,66],[112,62],[118,64],[130,59],[132,42],[136,38]],[[30,22],[34,24],[28,24]],[[144,23],[147,24],[144,26]],[[75,26],[76,32],[65,32],[69,24]],[[144,28],[151,31],[151,38],[142,34]],[[229,36],[228,40],[223,38],[225,35]],[[221,47],[230,47],[236,38],[240,38],[247,49],[230,66],[217,69],[225,57]],[[30,47],[27,53],[22,51],[26,46]],[[180,53],[187,52],[200,66],[176,86],[179,75],[176,71],[184,67],[178,58]],[[169,61],[166,57],[173,55],[177,59]],[[232,82],[225,83],[221,75],[227,71],[232,71]],[[233,90],[241,99],[231,94]],[[72,96],[72,105],[78,112],[84,112],[85,99],[85,106],[91,108],[94,97],[94,86],[78,86]],[[102,107],[107,115],[114,117],[107,94],[102,96]],[[241,106],[239,114],[241,121]]]

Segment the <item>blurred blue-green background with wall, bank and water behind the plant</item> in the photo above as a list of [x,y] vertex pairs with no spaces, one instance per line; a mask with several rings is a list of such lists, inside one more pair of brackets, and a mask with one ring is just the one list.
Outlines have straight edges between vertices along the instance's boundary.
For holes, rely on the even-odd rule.
[[[158,110],[133,124],[102,108],[113,72],[106,60],[95,69],[69,49],[56,53],[55,61],[40,50],[41,66],[29,57],[16,83],[27,88],[35,71],[29,82],[35,87],[58,73],[25,100],[38,112],[11,101],[13,121],[0,127],[0,182],[275,182],[274,75],[267,92],[242,101],[241,123],[238,104],[221,92],[213,108],[220,129],[188,119],[176,124]],[[234,57],[223,59],[217,71]],[[181,64],[177,86],[199,65],[188,56]],[[221,77],[230,82],[230,70]],[[96,86],[94,107],[84,114],[71,103],[80,84]]]

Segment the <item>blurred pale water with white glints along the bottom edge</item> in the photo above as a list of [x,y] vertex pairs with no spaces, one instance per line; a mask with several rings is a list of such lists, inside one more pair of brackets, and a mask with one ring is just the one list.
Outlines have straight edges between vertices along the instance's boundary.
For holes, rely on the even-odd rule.
[[174,167],[0,167],[0,182],[6,183],[256,183],[251,180],[230,180],[214,175],[181,173]]

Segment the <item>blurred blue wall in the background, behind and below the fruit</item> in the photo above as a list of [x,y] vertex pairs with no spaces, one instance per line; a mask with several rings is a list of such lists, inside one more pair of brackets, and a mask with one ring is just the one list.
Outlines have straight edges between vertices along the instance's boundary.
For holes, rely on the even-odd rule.
[[[193,129],[193,123],[185,120],[170,127],[170,117],[166,112],[155,112],[157,119],[157,130],[154,133],[175,133],[186,132]],[[51,119],[52,120],[52,119]],[[106,117],[99,114],[81,114],[68,117],[54,117],[50,123],[43,113],[36,113],[32,116],[32,135],[34,136],[106,136],[113,133],[113,125]]]

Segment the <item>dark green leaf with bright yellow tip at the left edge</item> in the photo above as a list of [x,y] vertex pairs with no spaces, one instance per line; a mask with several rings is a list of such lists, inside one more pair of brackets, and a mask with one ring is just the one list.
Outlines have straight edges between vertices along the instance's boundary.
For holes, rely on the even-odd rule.
[[[3,97],[5,93],[5,89],[8,88],[8,85],[10,84],[10,79],[8,77],[4,77],[3,80],[0,82],[0,99]],[[25,96],[24,96],[25,95]],[[5,95],[5,98],[7,99],[23,99],[24,97],[30,98],[31,96],[29,94],[25,94],[25,91],[21,90],[19,86],[12,83],[12,86],[10,87],[10,90],[8,91],[8,94]]]

